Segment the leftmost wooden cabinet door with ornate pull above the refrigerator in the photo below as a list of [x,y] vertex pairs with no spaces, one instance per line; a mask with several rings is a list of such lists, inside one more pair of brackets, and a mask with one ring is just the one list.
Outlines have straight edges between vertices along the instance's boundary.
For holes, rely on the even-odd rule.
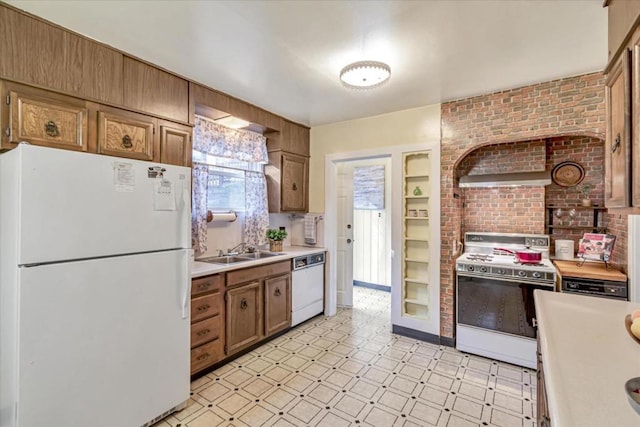
[[[81,99],[28,86],[6,84],[9,108],[2,148],[20,141],[34,145],[87,151],[87,108]],[[8,132],[7,132],[8,131]]]

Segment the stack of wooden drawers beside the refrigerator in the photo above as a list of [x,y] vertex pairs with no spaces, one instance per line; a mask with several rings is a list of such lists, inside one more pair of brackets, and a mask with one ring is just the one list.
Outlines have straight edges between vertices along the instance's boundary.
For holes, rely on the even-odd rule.
[[224,359],[224,274],[191,281],[191,375]]

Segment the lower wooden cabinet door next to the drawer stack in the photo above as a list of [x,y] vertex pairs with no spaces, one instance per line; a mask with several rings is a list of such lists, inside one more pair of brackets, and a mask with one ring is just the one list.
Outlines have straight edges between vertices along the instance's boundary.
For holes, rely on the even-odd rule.
[[262,338],[262,282],[227,290],[227,355]]

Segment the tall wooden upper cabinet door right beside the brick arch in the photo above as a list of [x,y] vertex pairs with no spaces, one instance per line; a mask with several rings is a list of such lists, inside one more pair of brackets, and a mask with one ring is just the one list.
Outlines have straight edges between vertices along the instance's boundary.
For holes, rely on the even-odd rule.
[[625,50],[607,77],[607,140],[605,143],[605,194],[608,208],[629,206],[631,86],[630,52]]

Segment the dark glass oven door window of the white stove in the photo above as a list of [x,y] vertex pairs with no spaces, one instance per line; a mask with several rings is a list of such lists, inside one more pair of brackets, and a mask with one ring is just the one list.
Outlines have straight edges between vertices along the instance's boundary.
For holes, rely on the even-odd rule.
[[529,283],[458,275],[458,323],[536,338],[535,289],[552,290]]

